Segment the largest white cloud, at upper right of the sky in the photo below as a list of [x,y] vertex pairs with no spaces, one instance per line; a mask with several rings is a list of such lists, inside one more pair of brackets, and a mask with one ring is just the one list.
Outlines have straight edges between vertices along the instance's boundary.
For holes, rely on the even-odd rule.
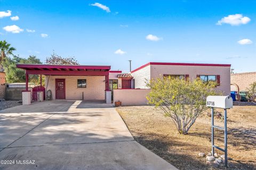
[[241,25],[250,22],[251,19],[247,16],[243,16],[242,14],[234,14],[228,15],[222,18],[220,21],[217,22],[217,25],[221,25],[222,23],[227,23],[230,25]]

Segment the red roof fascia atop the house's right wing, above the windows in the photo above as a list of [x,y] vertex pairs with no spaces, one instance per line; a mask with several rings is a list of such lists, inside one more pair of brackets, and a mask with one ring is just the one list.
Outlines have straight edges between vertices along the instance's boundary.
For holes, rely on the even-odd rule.
[[159,63],[159,62],[149,62],[145,65],[140,66],[139,68],[131,71],[131,73],[143,69],[148,65],[184,65],[184,66],[219,66],[219,67],[230,67],[231,64],[201,64],[201,63]]

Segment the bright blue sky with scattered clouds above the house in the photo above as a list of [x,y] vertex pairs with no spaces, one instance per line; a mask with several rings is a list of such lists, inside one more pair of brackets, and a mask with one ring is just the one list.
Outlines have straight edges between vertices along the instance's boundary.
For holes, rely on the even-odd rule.
[[147,62],[186,62],[251,72],[256,71],[255,6],[256,1],[234,0],[0,0],[0,39],[17,48],[15,54],[43,62],[55,50],[111,70],[128,71],[132,60],[132,70]]

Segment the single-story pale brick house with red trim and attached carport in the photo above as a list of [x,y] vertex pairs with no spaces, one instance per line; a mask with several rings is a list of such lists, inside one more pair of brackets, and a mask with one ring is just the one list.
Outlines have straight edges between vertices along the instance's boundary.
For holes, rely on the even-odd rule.
[[146,95],[150,91],[146,80],[169,75],[217,81],[217,90],[230,94],[230,64],[150,62],[129,73],[111,71],[110,66],[99,65],[17,64],[17,67],[26,70],[27,85],[22,99],[28,102],[23,101],[23,104],[31,101],[29,74],[45,75],[43,89],[45,92],[51,90],[52,100],[105,100],[106,103],[119,100],[124,105],[143,105],[147,104]]

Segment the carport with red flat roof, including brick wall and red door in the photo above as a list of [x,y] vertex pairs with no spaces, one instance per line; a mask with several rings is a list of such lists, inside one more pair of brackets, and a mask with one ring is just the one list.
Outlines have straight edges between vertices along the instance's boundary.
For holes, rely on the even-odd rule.
[[[44,91],[42,75],[46,76],[45,92],[50,89],[53,100],[84,100],[85,96],[87,100],[105,100],[106,103],[111,103],[110,66],[17,64],[17,67],[26,71],[26,90],[22,91],[23,105],[31,103],[32,94],[28,89],[29,75],[31,74],[40,75],[41,84],[37,88],[39,92]],[[50,77],[51,80],[49,80]],[[49,84],[54,84],[54,86],[47,87]]]

